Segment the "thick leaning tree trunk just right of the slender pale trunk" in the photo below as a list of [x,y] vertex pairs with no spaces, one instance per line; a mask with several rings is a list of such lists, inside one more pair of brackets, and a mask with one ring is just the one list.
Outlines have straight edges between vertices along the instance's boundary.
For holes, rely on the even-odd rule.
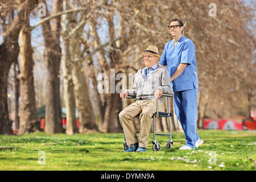
[[[88,10],[92,10],[90,4],[87,5]],[[90,7],[90,8],[89,8]],[[82,30],[85,22],[88,19],[89,13],[84,11],[80,13],[81,18],[77,18],[78,14],[73,16],[71,38],[69,39],[71,49],[72,65],[72,81],[74,84],[74,93],[76,100],[76,107],[79,111],[79,133],[89,133],[92,131],[99,131],[95,123],[94,111],[90,101],[90,94],[88,85],[86,83],[86,74],[82,70]]]

